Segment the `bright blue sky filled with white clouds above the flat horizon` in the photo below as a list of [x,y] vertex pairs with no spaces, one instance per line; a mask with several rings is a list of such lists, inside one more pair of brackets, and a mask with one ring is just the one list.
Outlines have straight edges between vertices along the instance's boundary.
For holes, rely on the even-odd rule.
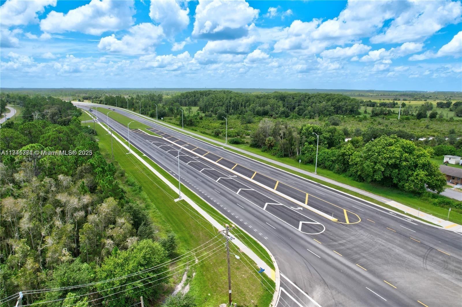
[[0,1],[1,87],[462,90],[461,1]]

